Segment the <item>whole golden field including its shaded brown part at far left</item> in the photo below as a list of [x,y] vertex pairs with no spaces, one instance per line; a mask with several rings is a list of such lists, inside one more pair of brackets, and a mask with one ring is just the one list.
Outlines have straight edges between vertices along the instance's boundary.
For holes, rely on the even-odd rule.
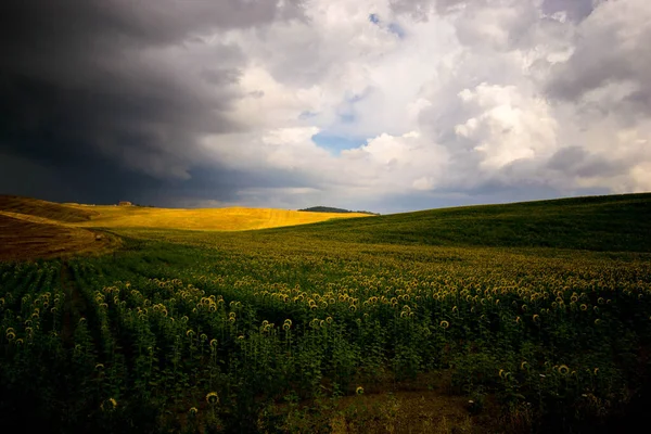
[[92,228],[242,231],[305,225],[367,214],[307,213],[272,208],[173,209],[58,204],[0,195],[0,260],[106,252],[115,237],[95,239]]

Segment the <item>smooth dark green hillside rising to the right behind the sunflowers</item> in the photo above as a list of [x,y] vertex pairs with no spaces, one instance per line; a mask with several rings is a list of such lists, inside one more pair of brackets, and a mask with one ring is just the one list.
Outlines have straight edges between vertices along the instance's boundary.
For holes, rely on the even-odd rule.
[[264,233],[361,243],[651,252],[651,193],[432,209]]

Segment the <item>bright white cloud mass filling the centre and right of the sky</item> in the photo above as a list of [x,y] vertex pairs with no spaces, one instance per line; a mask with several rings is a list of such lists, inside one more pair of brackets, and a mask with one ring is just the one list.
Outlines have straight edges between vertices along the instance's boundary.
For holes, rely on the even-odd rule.
[[[301,20],[217,29],[208,44],[244,58],[239,131],[205,133],[202,162],[301,180],[240,189],[255,205],[651,190],[651,3],[588,3],[306,0]],[[320,148],[319,132],[360,145]]]

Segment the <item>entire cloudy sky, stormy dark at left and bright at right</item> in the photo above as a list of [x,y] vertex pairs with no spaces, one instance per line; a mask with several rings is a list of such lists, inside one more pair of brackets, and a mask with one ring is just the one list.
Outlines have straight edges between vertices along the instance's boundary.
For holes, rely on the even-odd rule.
[[0,194],[382,214],[651,191],[648,0],[4,0]]

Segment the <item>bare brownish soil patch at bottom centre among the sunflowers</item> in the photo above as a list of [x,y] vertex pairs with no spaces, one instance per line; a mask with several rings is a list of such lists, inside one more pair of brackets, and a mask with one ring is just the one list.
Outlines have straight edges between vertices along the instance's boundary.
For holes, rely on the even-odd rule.
[[500,424],[499,407],[493,396],[485,396],[483,409],[472,412],[469,398],[452,393],[447,371],[421,374],[414,381],[365,386],[363,394],[341,397],[334,405],[328,398],[302,401],[293,409],[278,403],[273,412],[284,414],[288,432],[518,432],[510,424]]

